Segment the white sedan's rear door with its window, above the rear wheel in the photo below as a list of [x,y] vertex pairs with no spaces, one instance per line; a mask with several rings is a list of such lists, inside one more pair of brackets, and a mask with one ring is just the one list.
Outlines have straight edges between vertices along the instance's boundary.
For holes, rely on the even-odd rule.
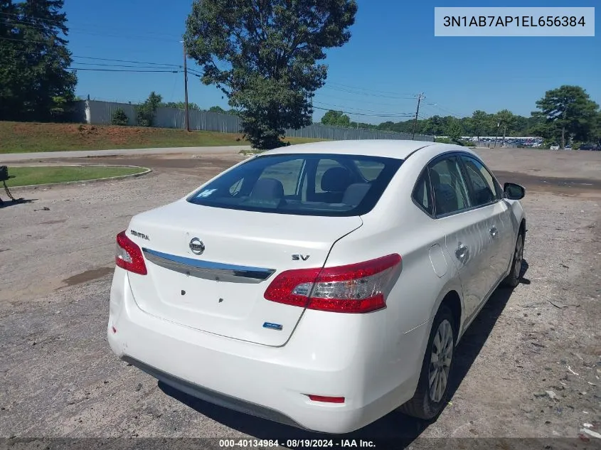
[[446,247],[459,271],[466,317],[486,295],[490,277],[491,237],[488,218],[472,209],[467,183],[457,156],[442,156],[430,164],[435,217],[446,235]]

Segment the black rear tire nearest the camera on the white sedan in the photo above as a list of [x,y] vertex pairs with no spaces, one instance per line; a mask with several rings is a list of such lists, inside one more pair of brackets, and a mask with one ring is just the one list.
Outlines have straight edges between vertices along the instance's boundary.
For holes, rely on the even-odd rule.
[[[446,336],[450,338],[450,342],[447,341],[447,346],[443,347],[446,350],[445,353],[449,356],[448,365],[442,364],[440,366],[432,364],[432,354],[437,353],[438,342],[440,342],[440,336]],[[448,336],[447,333],[451,333]],[[444,339],[444,338],[443,338]],[[446,339],[445,339],[446,340]],[[436,344],[435,344],[436,343]],[[446,306],[440,306],[434,321],[432,321],[432,329],[430,330],[430,338],[427,342],[426,352],[424,360],[422,362],[422,369],[420,372],[420,380],[417,382],[417,389],[413,398],[401,405],[398,411],[402,414],[406,414],[411,417],[417,417],[417,419],[432,420],[438,417],[442,412],[445,405],[447,404],[447,395],[449,391],[449,380],[452,377],[453,366],[454,366],[454,350],[457,343],[457,330],[455,326],[455,319],[451,309]],[[438,374],[440,371],[444,371],[446,375],[446,382],[444,382],[444,389],[435,391],[432,389],[432,385],[435,384]],[[430,373],[434,374],[432,385],[429,382]],[[441,382],[444,377],[438,378]]]

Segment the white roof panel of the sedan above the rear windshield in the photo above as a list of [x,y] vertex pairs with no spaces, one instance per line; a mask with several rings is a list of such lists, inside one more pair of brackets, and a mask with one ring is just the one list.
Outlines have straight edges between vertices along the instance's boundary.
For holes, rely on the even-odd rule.
[[432,141],[408,141],[400,139],[361,139],[346,141],[321,141],[308,144],[296,144],[265,151],[263,155],[276,154],[351,154],[361,156],[384,156],[405,159],[414,151],[427,146],[442,146],[441,151],[457,149],[451,144],[439,144]]

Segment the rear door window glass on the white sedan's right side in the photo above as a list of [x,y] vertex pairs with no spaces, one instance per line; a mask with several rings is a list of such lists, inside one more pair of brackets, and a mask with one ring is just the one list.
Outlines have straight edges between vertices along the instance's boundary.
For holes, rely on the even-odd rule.
[[430,166],[430,181],[437,216],[458,213],[472,207],[467,185],[455,156],[435,161]]

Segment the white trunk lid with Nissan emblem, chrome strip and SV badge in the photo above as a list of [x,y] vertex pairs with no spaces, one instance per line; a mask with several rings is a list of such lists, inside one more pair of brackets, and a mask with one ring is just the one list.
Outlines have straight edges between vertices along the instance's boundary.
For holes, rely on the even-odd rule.
[[[267,286],[284,270],[322,267],[334,242],[362,223],[359,217],[258,213],[180,200],[132,218],[127,235],[144,250],[148,274],[130,272],[129,282],[148,314],[220,336],[284,345],[304,309],[266,300]],[[191,250],[194,238],[203,243],[201,255]]]

